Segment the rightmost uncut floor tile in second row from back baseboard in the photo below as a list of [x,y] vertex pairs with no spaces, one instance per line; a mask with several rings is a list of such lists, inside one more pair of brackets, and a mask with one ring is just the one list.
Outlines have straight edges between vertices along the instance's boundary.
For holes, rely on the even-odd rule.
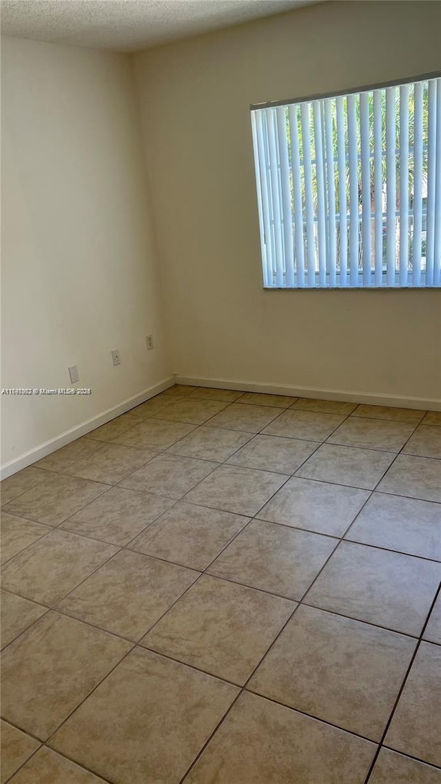
[[328,443],[399,452],[414,432],[414,424],[349,416],[329,437]]

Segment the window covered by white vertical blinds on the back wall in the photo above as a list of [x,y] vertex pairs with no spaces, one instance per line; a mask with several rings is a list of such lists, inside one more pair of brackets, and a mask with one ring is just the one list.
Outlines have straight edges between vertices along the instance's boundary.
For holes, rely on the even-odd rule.
[[265,288],[441,285],[441,78],[251,120]]

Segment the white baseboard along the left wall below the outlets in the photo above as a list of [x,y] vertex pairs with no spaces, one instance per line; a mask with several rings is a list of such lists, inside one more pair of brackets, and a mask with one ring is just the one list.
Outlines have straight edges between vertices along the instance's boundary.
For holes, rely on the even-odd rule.
[[44,444],[40,444],[39,446],[30,449],[29,452],[24,452],[23,455],[10,460],[9,463],[5,463],[5,465],[0,468],[0,478],[5,479],[6,477],[10,477],[11,474],[16,474],[16,471],[20,471],[22,468],[30,466],[31,463],[35,463],[36,460],[40,460],[42,457],[50,455],[51,452],[56,452],[56,449],[60,449],[62,446],[70,444],[71,441],[75,441],[77,438],[85,436],[87,433],[90,433],[91,430],[95,430],[96,427],[105,425],[107,422],[110,422],[111,419],[115,419],[115,416],[125,414],[130,408],[134,408],[136,405],[140,405],[140,403],[149,400],[150,397],[154,397],[155,394],[159,394],[159,392],[163,392],[169,387],[173,387],[174,383],[175,380],[173,376],[170,376],[168,379],[164,379],[158,384],[155,384],[154,387],[149,387],[147,390],[144,390],[144,392],[140,392],[134,397],[129,397],[128,400],[118,403],[118,405],[115,405],[113,408],[108,408],[107,411],[97,414],[97,416],[93,416],[92,419],[87,419],[86,422],[82,422],[80,425],[72,427],[71,430],[66,430],[64,433],[60,433],[60,435],[51,438],[49,441],[45,441]]

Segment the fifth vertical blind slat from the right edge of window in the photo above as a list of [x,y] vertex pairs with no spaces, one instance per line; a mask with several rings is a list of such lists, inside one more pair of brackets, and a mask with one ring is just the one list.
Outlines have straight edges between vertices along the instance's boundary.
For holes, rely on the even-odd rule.
[[395,210],[396,210],[396,161],[395,161],[395,128],[396,128],[396,90],[386,89],[386,211],[387,211],[387,281],[388,286],[395,286]]

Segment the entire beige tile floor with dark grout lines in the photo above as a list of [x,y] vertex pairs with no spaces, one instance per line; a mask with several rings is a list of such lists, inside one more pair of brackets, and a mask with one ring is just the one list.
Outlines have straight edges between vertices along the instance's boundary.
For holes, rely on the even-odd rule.
[[441,784],[440,413],[177,385],[1,489],[1,784]]

